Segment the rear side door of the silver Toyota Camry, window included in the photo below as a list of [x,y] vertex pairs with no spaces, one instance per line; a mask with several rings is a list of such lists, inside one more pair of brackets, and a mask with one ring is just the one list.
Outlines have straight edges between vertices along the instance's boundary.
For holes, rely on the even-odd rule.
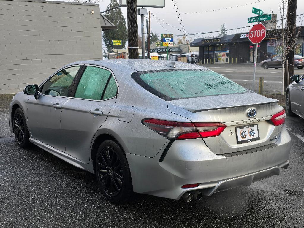
[[118,86],[112,71],[92,65],[76,84],[62,105],[61,137],[67,154],[89,163],[92,139],[115,105]]

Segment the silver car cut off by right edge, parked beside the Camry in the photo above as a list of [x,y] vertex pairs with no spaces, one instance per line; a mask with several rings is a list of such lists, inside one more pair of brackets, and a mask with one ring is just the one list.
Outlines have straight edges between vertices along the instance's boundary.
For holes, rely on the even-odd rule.
[[304,118],[304,74],[290,77],[292,83],[286,89],[286,114]]

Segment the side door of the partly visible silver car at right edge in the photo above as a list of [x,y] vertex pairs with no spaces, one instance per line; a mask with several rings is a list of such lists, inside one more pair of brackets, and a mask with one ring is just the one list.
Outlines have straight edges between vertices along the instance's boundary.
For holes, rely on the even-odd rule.
[[304,80],[303,75],[299,83],[293,83],[290,91],[291,109],[304,115]]

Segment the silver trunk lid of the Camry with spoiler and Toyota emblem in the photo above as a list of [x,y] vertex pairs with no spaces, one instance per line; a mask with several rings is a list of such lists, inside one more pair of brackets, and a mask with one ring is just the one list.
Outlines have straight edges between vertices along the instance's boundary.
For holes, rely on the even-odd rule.
[[[203,140],[213,153],[230,154],[276,142],[282,125],[274,126],[270,119],[272,115],[282,110],[277,102],[278,100],[252,92],[168,101],[168,109],[192,122],[226,124],[227,127],[219,136],[203,138]],[[247,113],[250,109],[256,109],[256,116],[248,117]],[[257,127],[254,127],[255,124]],[[259,139],[238,144],[237,135],[240,132],[237,132],[236,127],[241,129],[253,127],[255,134],[258,131]],[[249,128],[246,130],[248,131]]]

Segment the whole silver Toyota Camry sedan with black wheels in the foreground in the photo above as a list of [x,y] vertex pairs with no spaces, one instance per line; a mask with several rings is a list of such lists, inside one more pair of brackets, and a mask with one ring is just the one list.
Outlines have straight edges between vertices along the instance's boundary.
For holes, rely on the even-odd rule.
[[95,173],[109,201],[190,201],[279,175],[285,111],[205,67],[154,60],[68,64],[10,105],[10,129]]

